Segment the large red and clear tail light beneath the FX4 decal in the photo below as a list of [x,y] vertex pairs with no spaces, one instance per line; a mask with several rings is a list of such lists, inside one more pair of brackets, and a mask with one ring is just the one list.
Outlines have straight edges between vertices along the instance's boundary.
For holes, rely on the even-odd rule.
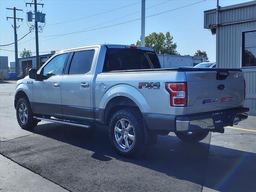
[[165,83],[165,88],[170,94],[170,105],[187,106],[187,84],[184,83]]

